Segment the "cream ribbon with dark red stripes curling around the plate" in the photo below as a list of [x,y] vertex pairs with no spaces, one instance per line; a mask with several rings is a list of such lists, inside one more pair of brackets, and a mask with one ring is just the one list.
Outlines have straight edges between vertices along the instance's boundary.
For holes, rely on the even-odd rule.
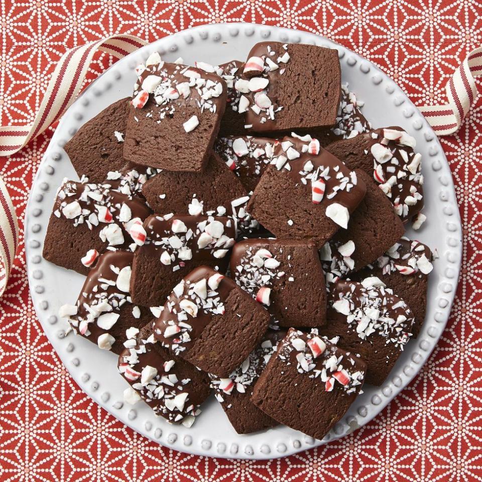
[[[0,156],[11,156],[57,121],[75,100],[97,51],[120,59],[146,45],[132,35],[112,35],[67,51],[57,64],[35,121],[0,127]],[[477,97],[474,77],[482,73],[482,48],[470,52],[446,85],[449,103],[421,107],[438,136],[455,132]],[[0,178],[0,296],[5,291],[19,240],[15,209]]]

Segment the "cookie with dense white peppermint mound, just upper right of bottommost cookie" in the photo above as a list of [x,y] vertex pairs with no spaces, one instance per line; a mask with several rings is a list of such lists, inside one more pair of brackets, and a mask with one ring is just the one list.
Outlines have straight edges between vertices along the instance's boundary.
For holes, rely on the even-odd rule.
[[411,337],[414,315],[378,278],[338,281],[331,289],[322,335],[367,362],[365,381],[382,385]]

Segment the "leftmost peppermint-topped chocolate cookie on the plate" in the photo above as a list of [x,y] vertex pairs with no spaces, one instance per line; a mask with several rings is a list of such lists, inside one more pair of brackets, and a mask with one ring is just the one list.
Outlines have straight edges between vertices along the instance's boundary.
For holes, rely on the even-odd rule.
[[152,211],[138,197],[102,184],[64,180],[50,216],[43,257],[58,266],[87,274],[109,247],[134,249],[132,233]]

